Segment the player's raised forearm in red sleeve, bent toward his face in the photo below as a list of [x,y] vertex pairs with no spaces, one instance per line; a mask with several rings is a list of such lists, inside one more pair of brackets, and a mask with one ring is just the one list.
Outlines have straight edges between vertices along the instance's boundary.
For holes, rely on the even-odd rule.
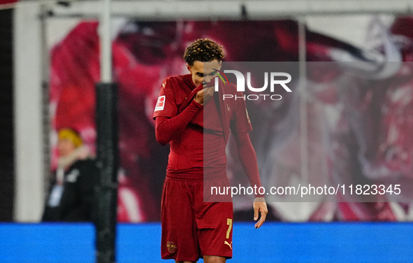
[[155,136],[161,145],[166,145],[180,134],[202,108],[201,104],[192,101],[182,113],[173,118],[157,117],[155,123]]

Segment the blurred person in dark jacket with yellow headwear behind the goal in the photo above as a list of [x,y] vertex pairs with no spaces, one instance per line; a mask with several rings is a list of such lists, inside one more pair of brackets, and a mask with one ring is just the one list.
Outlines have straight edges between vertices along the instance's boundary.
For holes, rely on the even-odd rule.
[[50,183],[42,221],[92,221],[98,170],[74,129],[60,129],[59,161]]

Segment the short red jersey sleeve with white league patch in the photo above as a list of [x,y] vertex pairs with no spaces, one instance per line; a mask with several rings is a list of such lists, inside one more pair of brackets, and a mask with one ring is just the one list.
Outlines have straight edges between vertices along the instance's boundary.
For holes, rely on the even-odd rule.
[[153,118],[169,117],[177,115],[177,105],[175,103],[175,94],[172,89],[172,83],[169,78],[166,78],[161,85],[161,91],[155,105]]

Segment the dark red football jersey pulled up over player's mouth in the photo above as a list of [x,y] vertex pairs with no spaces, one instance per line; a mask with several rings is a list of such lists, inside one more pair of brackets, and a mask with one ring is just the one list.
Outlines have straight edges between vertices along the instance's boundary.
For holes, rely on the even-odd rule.
[[[153,117],[173,118],[179,114],[180,106],[187,99],[193,99],[189,94],[195,88],[189,74],[166,78]],[[225,147],[229,129],[233,133],[243,133],[252,130],[252,127],[242,94],[236,92],[233,85],[226,85],[223,92],[237,94],[238,99],[222,100],[222,92],[215,92],[214,98],[205,103],[189,125],[171,141],[168,176],[192,175],[202,180],[204,173],[225,175]]]

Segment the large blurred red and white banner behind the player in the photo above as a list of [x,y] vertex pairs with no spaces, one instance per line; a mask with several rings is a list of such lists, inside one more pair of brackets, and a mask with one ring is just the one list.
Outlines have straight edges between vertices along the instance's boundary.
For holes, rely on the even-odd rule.
[[[261,189],[249,188],[227,138],[225,191],[236,219],[251,218],[254,191],[261,191],[270,220],[412,220],[412,23],[373,21],[363,49],[306,29],[306,62],[298,62],[292,20],[124,22],[113,38],[119,222],[160,220],[169,146],[157,143],[152,116],[164,109],[163,81],[188,73],[182,55],[197,38],[217,41],[226,54],[214,71],[217,108],[232,113],[242,101],[252,126]],[[51,169],[61,128],[80,131],[96,151],[99,76],[98,22],[79,22],[50,50]],[[241,93],[226,92],[228,83]],[[204,192],[224,193],[215,186]]]

